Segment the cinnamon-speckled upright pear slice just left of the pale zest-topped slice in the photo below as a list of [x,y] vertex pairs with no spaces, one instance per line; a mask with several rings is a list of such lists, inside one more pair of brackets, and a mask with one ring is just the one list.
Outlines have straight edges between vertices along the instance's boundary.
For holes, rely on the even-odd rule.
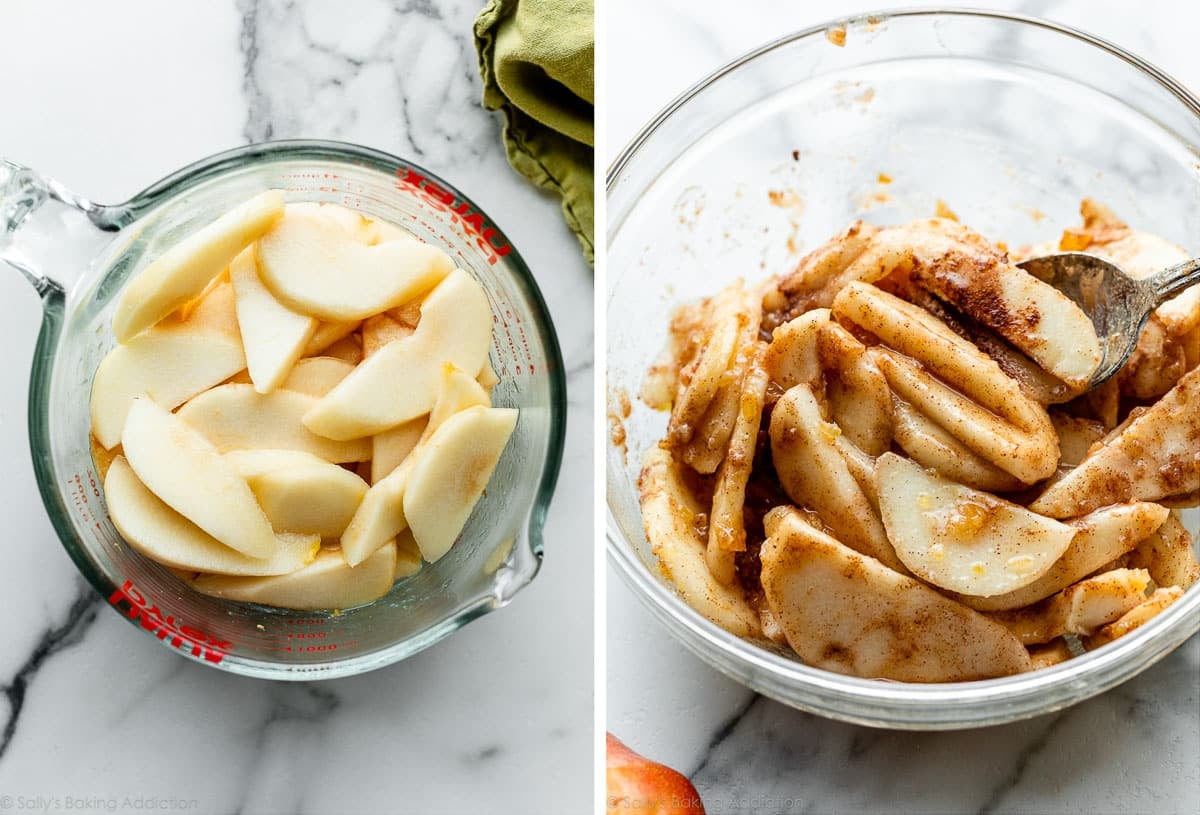
[[841,429],[821,418],[806,384],[788,390],[770,414],[770,454],[784,491],[815,510],[851,549],[905,571],[880,517],[838,451]]

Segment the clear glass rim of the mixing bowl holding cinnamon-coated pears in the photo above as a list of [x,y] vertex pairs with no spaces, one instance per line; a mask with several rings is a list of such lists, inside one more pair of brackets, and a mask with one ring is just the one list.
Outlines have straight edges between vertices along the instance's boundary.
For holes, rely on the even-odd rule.
[[[1200,98],[1174,77],[1108,40],[1069,25],[1027,14],[954,6],[866,12],[780,36],[730,60],[690,85],[643,125],[610,163],[606,196],[612,197],[625,168],[646,142],[695,96],[726,74],[779,48],[816,35],[823,36],[830,28],[922,17],[994,19],[1078,40],[1133,66],[1200,118]],[[610,242],[623,222],[624,217],[608,221]],[[1134,677],[1200,631],[1200,588],[1193,587],[1138,630],[1066,663],[1027,673],[934,684],[840,675],[773,653],[710,622],[670,586],[654,579],[652,564],[642,561],[631,545],[623,543],[624,535],[616,522],[611,499],[606,502],[606,513],[608,562],[616,564],[622,580],[652,616],[689,651],[761,694],[841,721],[895,730],[958,730],[1028,719],[1075,705]]]

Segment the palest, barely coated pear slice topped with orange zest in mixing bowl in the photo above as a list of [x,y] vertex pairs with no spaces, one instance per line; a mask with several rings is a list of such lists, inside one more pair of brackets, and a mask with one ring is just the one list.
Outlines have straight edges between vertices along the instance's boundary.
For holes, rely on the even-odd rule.
[[955,484],[886,453],[875,463],[888,539],[910,570],[934,586],[992,597],[1032,583],[1075,529]]

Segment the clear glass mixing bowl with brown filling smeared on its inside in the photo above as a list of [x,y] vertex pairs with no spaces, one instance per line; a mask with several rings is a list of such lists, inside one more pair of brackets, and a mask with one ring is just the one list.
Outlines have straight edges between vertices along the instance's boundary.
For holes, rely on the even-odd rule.
[[[845,47],[827,37],[845,28]],[[1031,18],[881,13],[800,31],[731,62],[664,109],[613,162],[608,202],[608,555],[666,629],[776,700],[868,725],[1021,719],[1128,679],[1200,629],[1200,587],[1134,634],[1048,670],[918,685],[815,670],[692,611],[656,568],[637,472],[666,417],[636,400],[672,305],[788,270],[856,217],[944,200],[1012,246],[1056,238],[1080,198],[1200,253],[1200,102],[1116,46]],[[883,174],[881,176],[881,174]],[[890,179],[890,182],[888,182]],[[619,433],[617,437],[619,438]],[[1194,511],[1186,516],[1198,529]]]

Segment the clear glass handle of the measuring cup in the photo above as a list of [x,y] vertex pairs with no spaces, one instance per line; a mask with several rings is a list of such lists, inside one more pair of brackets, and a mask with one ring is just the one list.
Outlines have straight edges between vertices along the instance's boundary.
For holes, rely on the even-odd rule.
[[[48,202],[52,205],[44,206]],[[79,217],[83,215],[84,217]],[[77,196],[54,179],[0,158],[0,260],[46,299],[88,269],[103,233],[124,226],[121,206]],[[46,274],[55,270],[55,276]]]

